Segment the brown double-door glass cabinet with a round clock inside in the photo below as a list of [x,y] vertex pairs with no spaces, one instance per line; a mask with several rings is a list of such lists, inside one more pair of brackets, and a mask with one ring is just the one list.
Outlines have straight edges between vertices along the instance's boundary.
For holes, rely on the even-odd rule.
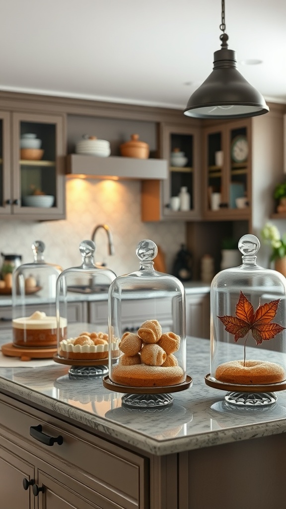
[[251,120],[204,128],[203,217],[251,217]]

